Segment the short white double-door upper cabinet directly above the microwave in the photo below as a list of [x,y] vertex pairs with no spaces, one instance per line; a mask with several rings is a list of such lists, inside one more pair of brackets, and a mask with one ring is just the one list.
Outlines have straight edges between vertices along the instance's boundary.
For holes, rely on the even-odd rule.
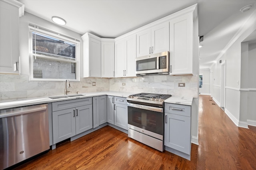
[[169,51],[169,23],[158,24],[137,34],[137,57]]

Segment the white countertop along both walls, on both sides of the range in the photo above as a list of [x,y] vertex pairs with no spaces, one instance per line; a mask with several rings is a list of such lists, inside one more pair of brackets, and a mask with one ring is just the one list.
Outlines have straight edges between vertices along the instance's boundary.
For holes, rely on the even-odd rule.
[[[34,98],[25,98],[25,99],[13,99],[8,101],[0,101],[0,109],[10,109],[13,107],[24,107],[29,105],[38,105],[43,103],[52,103],[56,101],[65,101],[65,100],[72,100],[72,99],[81,99],[86,97],[95,97],[95,96],[102,96],[102,95],[111,95],[117,97],[128,97],[134,93],[127,93],[127,92],[117,92],[117,91],[99,91],[99,92],[92,92],[92,93],[81,93],[84,96],[79,97],[68,97],[68,98],[61,98],[61,99],[50,99],[49,97],[34,97]],[[60,95],[63,96],[63,95]],[[172,96],[168,99],[164,100],[165,103],[174,103],[179,105],[192,105],[193,97],[177,97]]]

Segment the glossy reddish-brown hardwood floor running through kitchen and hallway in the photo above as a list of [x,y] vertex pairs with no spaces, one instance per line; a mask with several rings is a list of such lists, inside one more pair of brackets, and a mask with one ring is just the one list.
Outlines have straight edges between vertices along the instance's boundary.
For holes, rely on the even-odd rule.
[[236,127],[212,105],[199,98],[199,146],[192,144],[191,161],[160,152],[106,126],[19,166],[19,170],[256,170],[256,127]]

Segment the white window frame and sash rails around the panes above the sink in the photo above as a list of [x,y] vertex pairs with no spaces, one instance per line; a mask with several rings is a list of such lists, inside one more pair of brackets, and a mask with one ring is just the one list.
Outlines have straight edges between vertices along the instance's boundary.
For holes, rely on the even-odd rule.
[[[68,79],[69,81],[80,81],[80,41],[76,40],[75,38],[70,38],[68,36],[64,36],[60,33],[57,32],[53,32],[51,30],[39,27],[39,26],[34,26],[29,24],[28,26],[28,32],[29,32],[29,80],[30,81],[65,81],[66,79],[44,79],[44,78],[34,78],[34,73],[33,73],[33,69],[34,69],[34,64],[33,64],[33,56],[36,57],[41,57],[41,58],[46,58],[46,59],[52,59],[55,61],[64,61],[64,62],[69,62],[70,65],[72,65],[72,63],[76,63],[76,79]],[[53,57],[53,56],[49,56],[49,55],[43,55],[43,54],[39,54],[39,53],[33,53],[33,32],[45,35],[45,36],[50,36],[52,38],[56,38],[58,40],[62,40],[68,43],[73,43],[76,44],[76,58],[75,59],[71,59],[71,58],[66,58],[66,57]],[[72,73],[72,68],[70,70],[70,73]]]

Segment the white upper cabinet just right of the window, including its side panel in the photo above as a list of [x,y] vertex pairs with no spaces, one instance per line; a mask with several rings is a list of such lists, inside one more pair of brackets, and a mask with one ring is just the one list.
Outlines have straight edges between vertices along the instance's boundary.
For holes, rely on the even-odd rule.
[[86,33],[84,42],[84,77],[101,77],[101,42],[100,38]]

